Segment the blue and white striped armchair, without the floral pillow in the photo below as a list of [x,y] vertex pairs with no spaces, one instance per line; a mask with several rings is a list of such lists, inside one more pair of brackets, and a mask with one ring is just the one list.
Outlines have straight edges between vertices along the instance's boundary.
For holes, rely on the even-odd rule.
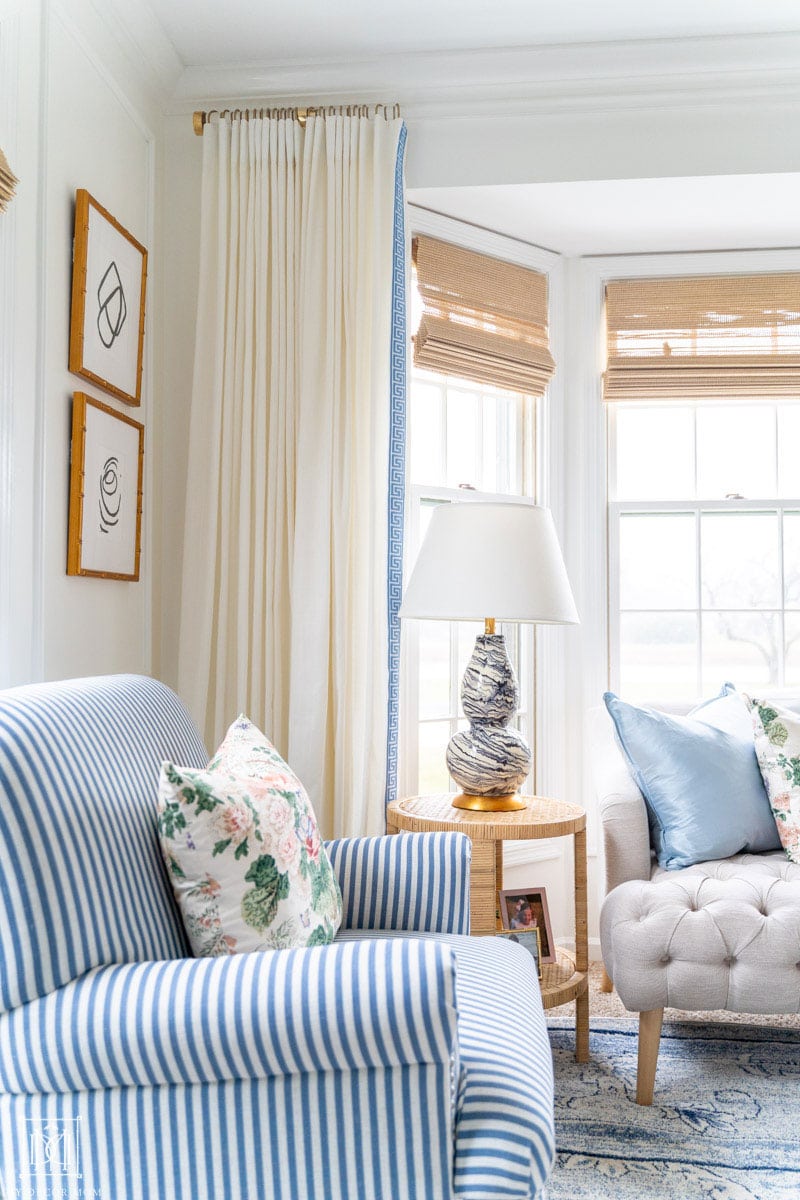
[[0,694],[0,1195],[539,1195],[539,990],[464,936],[468,840],[330,842],[333,946],[191,959],[156,781],[206,757],[151,679]]

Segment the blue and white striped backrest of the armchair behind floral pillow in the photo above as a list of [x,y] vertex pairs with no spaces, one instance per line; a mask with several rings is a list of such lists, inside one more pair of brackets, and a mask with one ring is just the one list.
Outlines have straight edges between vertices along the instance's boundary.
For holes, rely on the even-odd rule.
[[92,967],[187,954],[156,828],[164,758],[207,755],[154,679],[0,695],[0,1012]]

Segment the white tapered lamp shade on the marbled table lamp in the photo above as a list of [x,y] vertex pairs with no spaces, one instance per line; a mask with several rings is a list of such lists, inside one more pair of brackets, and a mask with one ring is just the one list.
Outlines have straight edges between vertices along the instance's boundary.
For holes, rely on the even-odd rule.
[[549,509],[440,504],[433,512],[401,617],[577,624]]

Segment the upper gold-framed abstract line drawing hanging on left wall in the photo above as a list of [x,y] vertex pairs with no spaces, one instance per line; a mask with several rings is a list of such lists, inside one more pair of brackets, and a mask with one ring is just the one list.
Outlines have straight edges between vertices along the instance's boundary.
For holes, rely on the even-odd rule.
[[76,192],[70,370],[142,402],[148,251],[89,192]]

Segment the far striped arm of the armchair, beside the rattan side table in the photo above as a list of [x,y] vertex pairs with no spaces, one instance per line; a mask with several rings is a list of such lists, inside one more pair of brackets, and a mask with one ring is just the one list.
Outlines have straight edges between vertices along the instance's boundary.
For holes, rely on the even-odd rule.
[[403,833],[329,841],[342,888],[343,929],[469,934],[469,864],[463,833]]

